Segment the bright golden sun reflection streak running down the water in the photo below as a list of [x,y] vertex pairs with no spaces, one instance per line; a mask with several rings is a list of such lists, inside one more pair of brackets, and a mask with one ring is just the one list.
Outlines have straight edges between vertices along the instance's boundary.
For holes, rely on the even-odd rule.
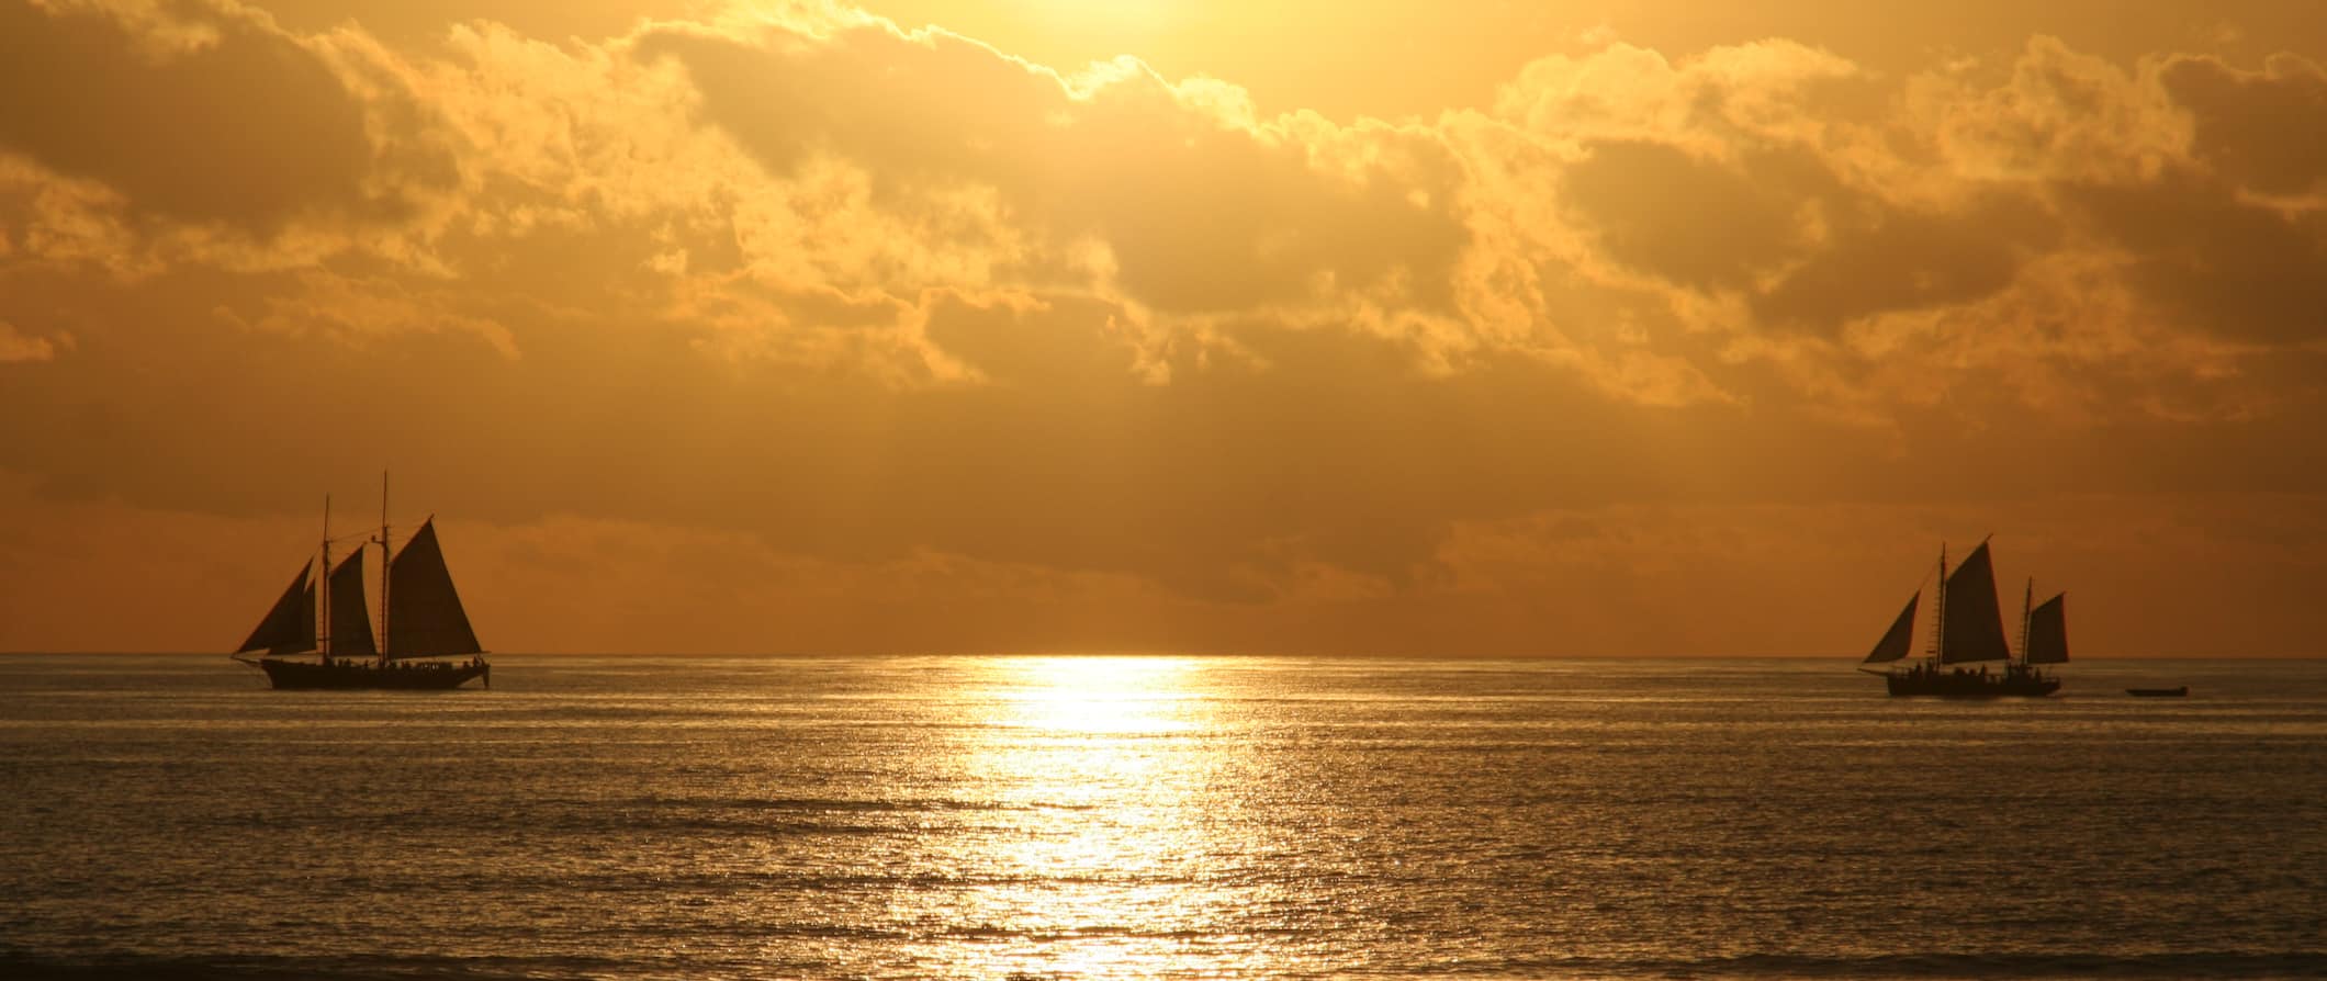
[[[1191,658],[1008,658],[963,702],[961,779],[994,823],[952,855],[968,888],[924,911],[926,955],[975,976],[1205,974],[1233,851],[1212,821],[1222,742]],[[1252,965],[1240,965],[1252,967]]]

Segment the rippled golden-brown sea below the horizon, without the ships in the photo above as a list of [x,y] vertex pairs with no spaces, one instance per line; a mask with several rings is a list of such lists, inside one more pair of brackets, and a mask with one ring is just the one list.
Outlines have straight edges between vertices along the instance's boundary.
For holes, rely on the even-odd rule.
[[496,667],[0,658],[0,976],[2327,974],[2320,660]]

